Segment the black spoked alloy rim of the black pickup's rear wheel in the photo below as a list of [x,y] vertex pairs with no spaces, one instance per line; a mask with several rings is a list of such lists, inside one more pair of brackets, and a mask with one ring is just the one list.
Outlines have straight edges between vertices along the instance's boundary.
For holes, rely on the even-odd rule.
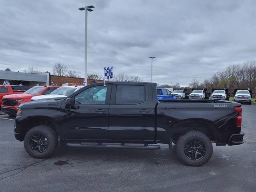
[[200,160],[206,154],[206,147],[201,140],[193,139],[186,143],[184,152],[190,160]]

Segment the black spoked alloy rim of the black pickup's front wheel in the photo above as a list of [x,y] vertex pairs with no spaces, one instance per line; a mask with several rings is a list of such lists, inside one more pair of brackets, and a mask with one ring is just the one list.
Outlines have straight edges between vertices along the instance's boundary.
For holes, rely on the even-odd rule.
[[43,134],[34,134],[30,138],[29,146],[36,153],[45,152],[48,148],[48,139]]

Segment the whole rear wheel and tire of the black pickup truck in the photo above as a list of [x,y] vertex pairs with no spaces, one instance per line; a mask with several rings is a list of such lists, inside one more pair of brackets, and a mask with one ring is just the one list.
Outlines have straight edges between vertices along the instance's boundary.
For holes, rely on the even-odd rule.
[[199,131],[189,131],[180,136],[176,144],[178,158],[189,166],[202,166],[212,157],[210,139]]

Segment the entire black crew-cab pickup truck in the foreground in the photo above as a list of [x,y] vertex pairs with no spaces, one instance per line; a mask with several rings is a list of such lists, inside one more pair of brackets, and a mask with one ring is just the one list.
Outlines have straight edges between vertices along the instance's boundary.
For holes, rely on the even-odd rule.
[[108,82],[67,98],[21,104],[14,134],[35,158],[47,158],[60,143],[122,149],[159,149],[158,143],[172,148],[174,143],[184,164],[201,166],[212,156],[212,143],[243,143],[241,123],[236,102],[157,100],[155,83]]

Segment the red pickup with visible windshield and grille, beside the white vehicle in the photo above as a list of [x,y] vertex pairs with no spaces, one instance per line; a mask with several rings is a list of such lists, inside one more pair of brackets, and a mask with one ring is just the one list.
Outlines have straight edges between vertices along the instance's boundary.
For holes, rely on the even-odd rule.
[[60,86],[34,86],[21,94],[6,95],[2,98],[2,111],[10,116],[16,116],[18,105],[31,101],[31,98],[38,95],[50,94]]

